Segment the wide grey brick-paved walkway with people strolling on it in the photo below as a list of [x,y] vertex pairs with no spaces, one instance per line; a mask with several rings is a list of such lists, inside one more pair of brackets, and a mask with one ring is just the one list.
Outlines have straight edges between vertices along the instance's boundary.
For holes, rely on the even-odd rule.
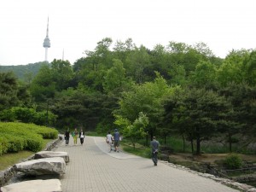
[[[79,141],[78,141],[79,143]],[[224,184],[194,173],[153,162],[124,152],[108,153],[102,137],[85,137],[84,145],[61,143],[55,151],[70,156],[61,178],[63,192],[234,192]]]

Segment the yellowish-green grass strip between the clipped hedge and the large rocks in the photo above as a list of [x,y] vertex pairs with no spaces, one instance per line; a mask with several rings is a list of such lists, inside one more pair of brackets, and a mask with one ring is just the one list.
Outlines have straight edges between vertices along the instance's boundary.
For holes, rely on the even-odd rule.
[[13,166],[15,163],[18,163],[22,159],[26,159],[32,154],[34,154],[32,151],[20,151],[18,153],[3,154],[0,156],[0,170],[2,171],[9,166]]

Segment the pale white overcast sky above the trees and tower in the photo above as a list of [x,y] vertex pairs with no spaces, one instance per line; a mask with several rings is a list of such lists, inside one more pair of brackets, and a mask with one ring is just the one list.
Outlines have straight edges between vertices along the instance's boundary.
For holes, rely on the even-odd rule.
[[170,41],[203,42],[224,58],[231,49],[256,48],[255,0],[3,0],[0,65],[44,61],[49,16],[49,62],[74,61],[102,38],[131,38],[154,49]]

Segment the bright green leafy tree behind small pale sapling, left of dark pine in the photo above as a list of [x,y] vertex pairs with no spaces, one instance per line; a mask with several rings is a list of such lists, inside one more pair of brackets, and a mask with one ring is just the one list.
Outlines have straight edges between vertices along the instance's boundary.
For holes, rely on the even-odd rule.
[[124,92],[119,100],[119,109],[115,110],[114,116],[121,116],[133,122],[141,112],[149,119],[147,130],[153,137],[160,123],[163,106],[161,100],[168,95],[172,89],[166,84],[166,80],[157,74],[154,82],[135,85],[133,90]]

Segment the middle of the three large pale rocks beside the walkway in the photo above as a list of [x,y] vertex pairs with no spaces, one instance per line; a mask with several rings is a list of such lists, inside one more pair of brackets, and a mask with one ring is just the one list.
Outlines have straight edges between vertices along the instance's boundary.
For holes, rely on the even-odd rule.
[[66,163],[61,157],[28,160],[15,164],[14,167],[17,172],[24,172],[26,175],[61,175],[66,172]]

